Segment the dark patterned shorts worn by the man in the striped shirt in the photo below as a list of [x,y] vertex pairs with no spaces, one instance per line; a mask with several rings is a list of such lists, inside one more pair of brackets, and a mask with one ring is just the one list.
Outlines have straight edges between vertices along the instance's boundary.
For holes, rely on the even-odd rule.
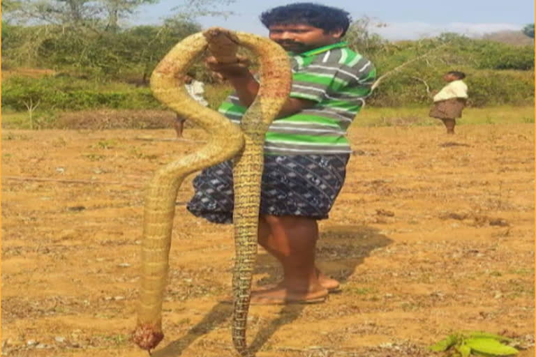
[[[266,155],[260,214],[328,217],[343,187],[349,154]],[[204,169],[193,179],[195,195],[186,208],[214,223],[232,223],[232,162]]]

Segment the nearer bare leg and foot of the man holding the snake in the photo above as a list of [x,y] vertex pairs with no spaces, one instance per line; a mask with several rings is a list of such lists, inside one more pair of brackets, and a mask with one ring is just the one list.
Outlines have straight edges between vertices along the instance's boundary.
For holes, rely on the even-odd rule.
[[263,215],[259,243],[283,266],[283,281],[271,289],[254,291],[253,303],[308,301],[327,296],[315,267],[318,225],[295,216]]

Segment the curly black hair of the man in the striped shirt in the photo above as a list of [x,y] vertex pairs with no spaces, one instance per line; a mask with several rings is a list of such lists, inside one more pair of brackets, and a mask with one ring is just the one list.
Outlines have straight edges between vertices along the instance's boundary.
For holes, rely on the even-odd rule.
[[348,30],[352,17],[345,10],[318,3],[290,3],[265,11],[260,15],[260,21],[267,28],[274,24],[308,24],[324,32],[342,29],[342,37]]

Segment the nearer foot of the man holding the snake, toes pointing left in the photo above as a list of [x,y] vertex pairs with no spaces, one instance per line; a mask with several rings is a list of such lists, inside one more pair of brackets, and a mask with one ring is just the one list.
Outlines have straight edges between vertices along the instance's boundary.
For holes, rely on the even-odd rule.
[[328,295],[325,287],[318,285],[306,291],[292,289],[283,282],[269,289],[251,291],[252,305],[283,305],[292,303],[323,303]]

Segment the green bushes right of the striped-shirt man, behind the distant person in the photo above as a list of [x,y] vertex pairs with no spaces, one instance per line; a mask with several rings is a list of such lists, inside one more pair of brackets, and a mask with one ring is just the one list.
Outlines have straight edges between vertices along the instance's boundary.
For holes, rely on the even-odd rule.
[[[359,43],[350,43],[357,52]],[[429,105],[431,95],[445,85],[449,70],[466,73],[468,105],[532,105],[534,103],[534,47],[516,47],[475,40],[452,33],[439,38],[383,43],[362,54],[375,64],[378,77],[404,63],[382,80],[368,104],[377,107]],[[418,61],[412,61],[427,54]],[[409,63],[408,63],[409,62]]]

